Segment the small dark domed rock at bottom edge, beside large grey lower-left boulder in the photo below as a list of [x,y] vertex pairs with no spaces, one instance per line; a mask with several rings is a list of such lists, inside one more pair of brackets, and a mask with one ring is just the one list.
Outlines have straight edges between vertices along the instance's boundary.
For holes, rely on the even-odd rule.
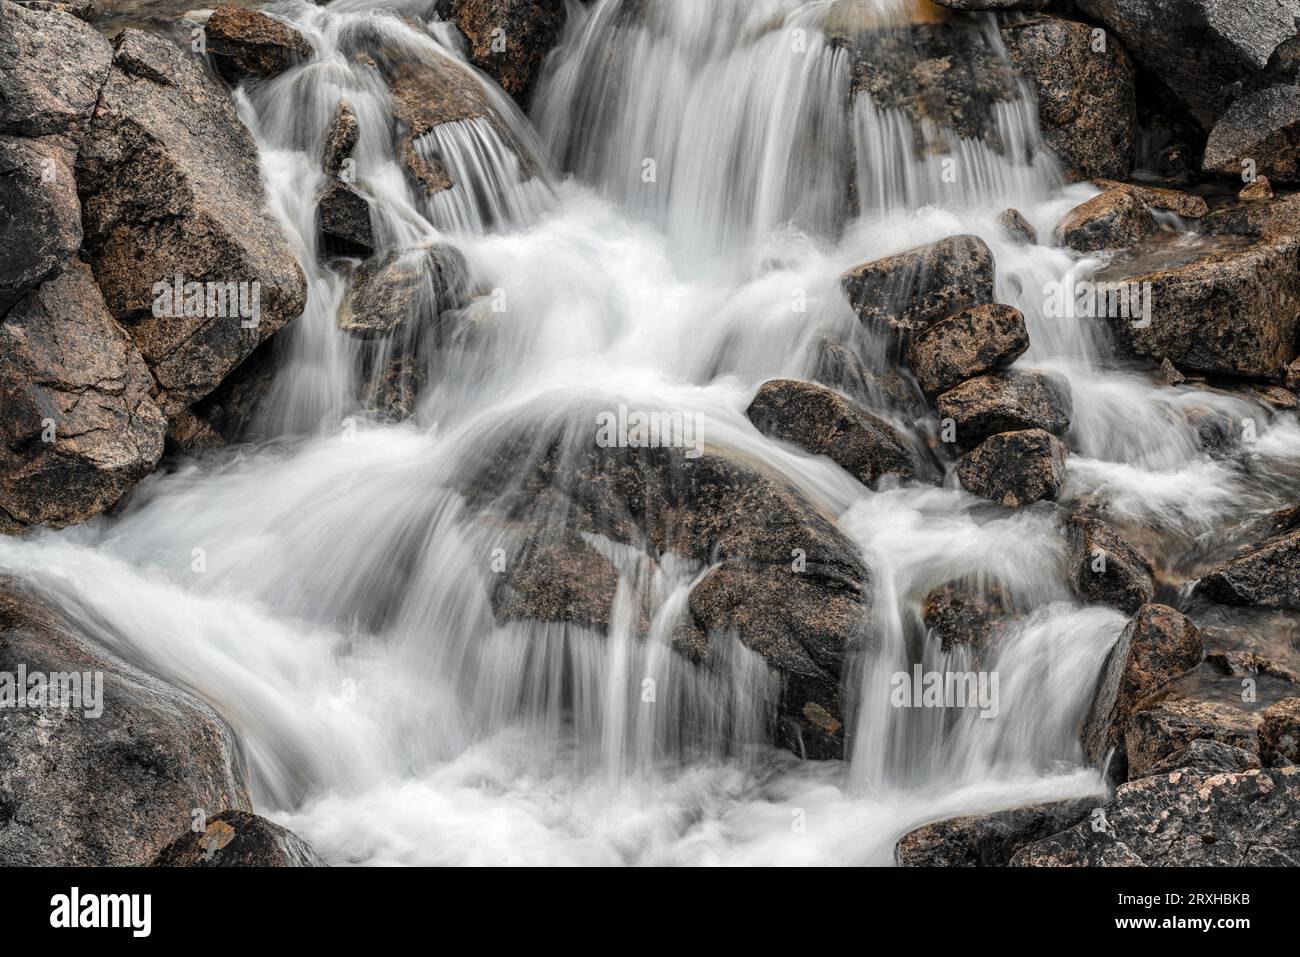
[[292,831],[243,810],[208,818],[202,833],[192,830],[168,844],[152,867],[325,867],[325,862]]

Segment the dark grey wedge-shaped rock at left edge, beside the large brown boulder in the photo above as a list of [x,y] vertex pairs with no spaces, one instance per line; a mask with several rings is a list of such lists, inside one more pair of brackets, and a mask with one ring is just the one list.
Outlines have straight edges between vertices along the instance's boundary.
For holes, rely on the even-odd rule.
[[0,315],[77,256],[81,203],[72,163],[53,143],[0,137]]

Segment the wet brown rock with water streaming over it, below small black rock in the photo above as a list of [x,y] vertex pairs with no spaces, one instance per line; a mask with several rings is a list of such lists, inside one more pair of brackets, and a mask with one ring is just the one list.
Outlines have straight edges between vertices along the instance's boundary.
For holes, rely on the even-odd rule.
[[424,329],[447,309],[464,306],[468,270],[464,256],[447,243],[396,250],[364,263],[338,326],[360,339]]

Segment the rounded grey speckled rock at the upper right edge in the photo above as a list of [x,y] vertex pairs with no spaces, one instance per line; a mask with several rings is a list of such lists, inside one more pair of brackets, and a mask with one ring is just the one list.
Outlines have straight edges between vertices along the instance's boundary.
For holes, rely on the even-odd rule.
[[1214,124],[1201,169],[1240,174],[1247,161],[1278,182],[1300,181],[1300,87],[1243,96]]

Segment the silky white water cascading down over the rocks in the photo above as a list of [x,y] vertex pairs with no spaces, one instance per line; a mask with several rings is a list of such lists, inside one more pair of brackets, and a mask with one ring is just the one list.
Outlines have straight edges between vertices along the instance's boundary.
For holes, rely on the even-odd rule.
[[[904,117],[861,99],[852,113],[832,108],[848,64],[814,29],[826,4],[656,0],[646,27],[620,26],[623,7],[571,5],[536,135],[494,96],[536,148],[537,178],[520,182],[489,125],[441,129],[428,146],[451,160],[458,187],[434,202],[408,186],[382,81],[352,57],[459,57],[443,25],[396,16],[426,17],[432,4],[270,8],[317,48],[240,94],[272,207],[311,280],[256,429],[272,439],[147,480],[117,518],[3,540],[0,567],[212,702],[246,749],[259,809],[334,863],[885,863],[926,820],[1096,793],[1076,729],[1123,618],[1072,602],[1061,514],[1005,512],[952,478],[866,490],[759,434],[744,415],[755,387],[805,373],[819,330],[854,330],[845,268],[971,231],[994,252],[998,298],[1028,320],[1022,365],[1074,387],[1067,502],[1195,537],[1278,503],[1265,477],[1300,464],[1300,434],[1243,399],[1118,371],[1088,320],[1048,317],[1044,283],[1097,263],[1013,246],[996,217],[1015,205],[1049,237],[1089,187],[1063,187],[1049,156],[1010,161],[954,139],[971,179],[949,195],[932,161],[901,148]],[[789,44],[794,27],[814,29],[803,52]],[[381,244],[450,239],[485,291],[459,317],[472,332],[434,356],[432,385],[399,425],[352,398],[358,347],[334,329],[346,280],[316,257],[320,144],[341,95],[361,125],[358,169]],[[1024,104],[1001,108],[998,124],[1011,156],[1037,142]],[[864,212],[846,222],[836,183],[850,169]],[[806,311],[792,308],[798,296]],[[464,463],[521,433],[586,428],[619,402],[699,413],[711,446],[766,462],[861,545],[881,648],[849,677],[846,762],[800,762],[764,742],[774,683],[738,644],[725,649],[727,679],[668,650],[703,571],[682,559],[651,567],[597,541],[620,570],[607,637],[494,623],[486,583],[502,538],[467,514],[455,490]],[[1199,450],[1179,412],[1191,404],[1258,419],[1251,471]],[[1001,676],[996,719],[888,703],[888,676],[914,662],[972,667],[961,650],[945,661],[919,624],[924,594],[954,577],[998,581],[1028,612],[987,664]],[[642,641],[632,609],[644,594]],[[659,689],[653,705],[645,677]]]

